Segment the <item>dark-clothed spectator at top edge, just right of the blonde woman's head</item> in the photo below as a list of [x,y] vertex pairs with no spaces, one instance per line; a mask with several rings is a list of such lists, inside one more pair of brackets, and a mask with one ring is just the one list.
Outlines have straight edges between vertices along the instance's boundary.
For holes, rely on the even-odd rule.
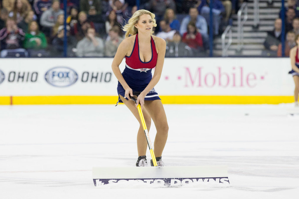
[[149,10],[155,13],[156,30],[159,30],[158,25],[164,16],[164,12],[167,8],[176,10],[176,4],[173,0],[151,0],[149,1]]

